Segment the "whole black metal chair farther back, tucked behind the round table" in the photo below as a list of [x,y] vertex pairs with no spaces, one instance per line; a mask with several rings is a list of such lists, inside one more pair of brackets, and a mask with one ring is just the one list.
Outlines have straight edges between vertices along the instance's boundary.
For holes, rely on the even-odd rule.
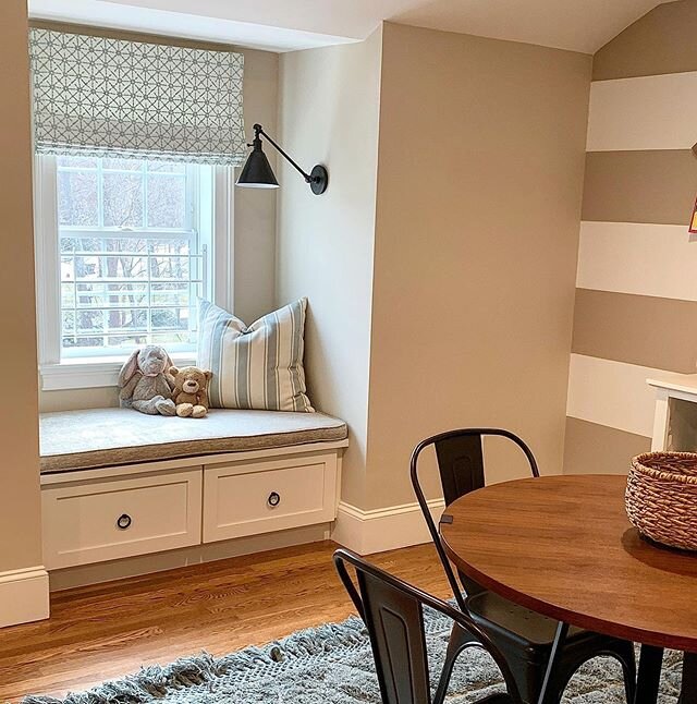
[[[460,570],[455,576],[419,483],[418,460],[426,448],[433,447],[445,506],[449,506],[461,496],[485,486],[484,438],[487,436],[502,437],[514,442],[527,458],[533,476],[539,476],[530,448],[513,433],[499,428],[467,428],[441,433],[419,442],[412,453],[412,485],[457,606],[503,653],[525,704],[538,704],[542,692],[545,704],[558,704],[576,669],[598,655],[608,655],[620,661],[627,702],[634,702],[636,663],[632,643],[572,627],[555,655],[552,677],[545,684],[547,665],[559,623],[489,592]],[[472,632],[464,630],[457,622],[453,626],[445,665],[435,696],[437,704],[445,696],[455,659],[462,650],[461,644],[468,642],[472,635]]]

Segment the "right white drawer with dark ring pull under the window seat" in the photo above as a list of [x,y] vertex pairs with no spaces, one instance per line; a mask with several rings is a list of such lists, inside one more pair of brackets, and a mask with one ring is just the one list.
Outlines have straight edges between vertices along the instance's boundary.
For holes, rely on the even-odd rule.
[[337,454],[231,463],[204,470],[204,543],[337,518]]

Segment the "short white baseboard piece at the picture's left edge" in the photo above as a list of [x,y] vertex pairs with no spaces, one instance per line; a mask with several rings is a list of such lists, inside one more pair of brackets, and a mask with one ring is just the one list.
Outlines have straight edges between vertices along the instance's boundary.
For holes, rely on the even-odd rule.
[[0,572],[0,628],[48,616],[48,572],[42,565]]

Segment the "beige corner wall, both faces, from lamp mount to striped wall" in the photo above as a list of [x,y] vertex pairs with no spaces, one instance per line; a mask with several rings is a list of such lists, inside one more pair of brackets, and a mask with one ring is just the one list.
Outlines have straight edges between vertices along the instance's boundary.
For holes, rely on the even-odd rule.
[[[461,425],[509,427],[561,472],[591,68],[393,24],[379,40],[281,59],[284,142],[330,186],[283,172],[279,303],[309,295],[310,391],[350,422],[360,509],[413,502],[412,448]],[[523,471],[492,449],[491,480]]]

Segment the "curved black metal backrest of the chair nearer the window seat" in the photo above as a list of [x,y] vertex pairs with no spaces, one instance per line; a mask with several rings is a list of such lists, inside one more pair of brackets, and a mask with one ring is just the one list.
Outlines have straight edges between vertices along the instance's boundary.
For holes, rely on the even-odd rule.
[[[461,496],[485,486],[484,439],[487,436],[503,437],[514,442],[527,458],[533,476],[540,475],[537,461],[530,448],[517,435],[501,428],[461,428],[433,435],[421,440],[416,446],[411,461],[412,485],[416,494],[416,499],[424,513],[428,531],[438,550],[438,556],[443,565],[457,605],[463,611],[466,611],[466,606],[462,596],[462,588],[457,584],[455,573],[441,545],[440,534],[431,517],[424,490],[421,489],[418,478],[418,460],[426,448],[433,447],[436,450],[440,484],[443,489],[443,498],[445,506],[449,506]],[[458,571],[458,576],[462,587],[464,587],[469,596],[484,592],[484,587],[480,584],[477,584],[477,582],[463,572]]]

